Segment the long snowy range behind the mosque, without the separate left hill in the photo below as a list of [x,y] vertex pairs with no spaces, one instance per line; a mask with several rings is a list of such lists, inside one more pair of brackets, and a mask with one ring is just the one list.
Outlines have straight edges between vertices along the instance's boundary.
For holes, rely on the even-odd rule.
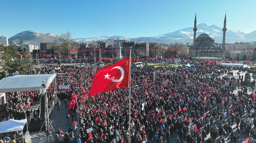
[[[209,34],[217,43],[222,42],[223,31],[221,27],[217,25],[206,25],[200,23],[197,25],[196,37],[202,33]],[[159,43],[174,43],[174,42],[193,42],[193,27],[183,28],[174,32],[161,34],[153,37],[138,37],[130,38],[130,40],[140,42],[159,42]],[[251,33],[240,30],[229,30],[226,31],[226,42],[243,42],[256,40],[256,31]],[[92,42],[92,41],[104,41],[105,39],[128,39],[123,36],[97,36],[88,38],[77,38],[76,42]]]

